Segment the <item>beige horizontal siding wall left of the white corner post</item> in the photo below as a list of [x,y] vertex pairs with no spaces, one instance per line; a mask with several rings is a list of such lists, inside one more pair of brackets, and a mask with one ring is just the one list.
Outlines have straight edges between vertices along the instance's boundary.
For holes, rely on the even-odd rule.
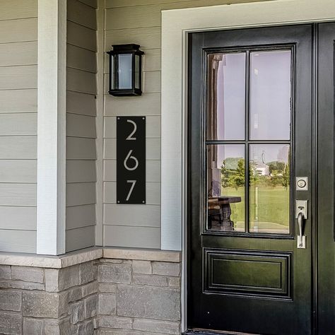
[[0,5],[0,251],[36,252],[37,0]]

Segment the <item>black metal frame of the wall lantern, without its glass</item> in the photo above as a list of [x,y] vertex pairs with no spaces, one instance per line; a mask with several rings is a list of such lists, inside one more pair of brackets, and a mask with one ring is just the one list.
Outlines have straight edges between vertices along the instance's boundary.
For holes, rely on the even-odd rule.
[[[142,55],[144,54],[136,44],[112,45],[113,49],[108,51],[110,56],[110,88],[108,93],[114,96],[129,96],[142,94]],[[131,88],[118,88],[119,86],[119,54],[131,54]],[[136,88],[136,56],[139,56],[139,87]],[[113,64],[114,62],[114,64]],[[112,71],[113,69],[113,71]]]

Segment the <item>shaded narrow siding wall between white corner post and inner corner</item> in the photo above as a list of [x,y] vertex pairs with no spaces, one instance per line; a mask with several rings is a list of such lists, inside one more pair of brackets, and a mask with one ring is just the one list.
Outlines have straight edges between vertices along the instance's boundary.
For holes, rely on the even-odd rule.
[[67,1],[66,252],[95,245],[96,1]]

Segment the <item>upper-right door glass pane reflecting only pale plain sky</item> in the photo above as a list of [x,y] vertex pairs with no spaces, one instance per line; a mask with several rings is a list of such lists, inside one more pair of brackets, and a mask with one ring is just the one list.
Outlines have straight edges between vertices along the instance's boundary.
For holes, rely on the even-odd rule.
[[290,57],[250,52],[250,139],[290,139]]

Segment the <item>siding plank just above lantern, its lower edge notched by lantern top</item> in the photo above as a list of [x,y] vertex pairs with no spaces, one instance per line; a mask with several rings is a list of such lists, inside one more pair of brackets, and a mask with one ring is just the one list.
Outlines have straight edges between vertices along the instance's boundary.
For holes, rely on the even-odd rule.
[[142,49],[159,49],[160,27],[106,30],[105,51],[109,51],[112,45],[134,43],[134,41],[141,45]]

